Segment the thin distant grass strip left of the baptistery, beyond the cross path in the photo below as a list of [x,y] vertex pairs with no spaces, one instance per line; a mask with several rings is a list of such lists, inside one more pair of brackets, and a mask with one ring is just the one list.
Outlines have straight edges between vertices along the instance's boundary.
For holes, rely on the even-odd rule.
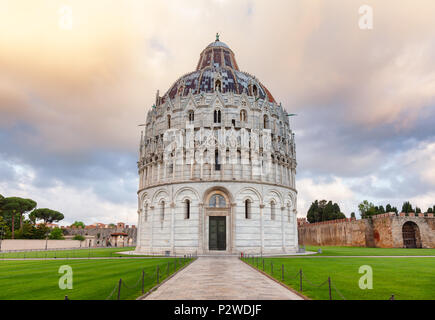
[[89,249],[47,250],[47,251],[26,251],[26,252],[0,252],[0,259],[125,257],[127,255],[117,254],[117,252],[131,251],[134,249],[135,247],[125,247],[125,248],[121,247],[121,248],[89,248]]

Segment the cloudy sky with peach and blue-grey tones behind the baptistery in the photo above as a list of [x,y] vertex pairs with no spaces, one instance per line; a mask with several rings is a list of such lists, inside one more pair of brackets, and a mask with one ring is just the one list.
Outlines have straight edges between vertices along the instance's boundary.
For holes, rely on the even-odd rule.
[[[371,29],[361,29],[373,9]],[[435,204],[432,0],[0,0],[0,194],[136,224],[138,124],[220,33],[296,134],[298,216]]]

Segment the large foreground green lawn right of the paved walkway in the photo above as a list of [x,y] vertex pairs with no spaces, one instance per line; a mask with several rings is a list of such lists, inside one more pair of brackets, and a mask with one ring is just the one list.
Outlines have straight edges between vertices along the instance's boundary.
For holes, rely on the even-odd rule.
[[[265,258],[265,271],[281,281],[284,265],[284,283],[299,291],[298,272],[303,272],[302,293],[312,299],[329,299],[328,283],[319,285],[331,277],[332,283],[346,300],[387,300],[392,294],[397,300],[435,299],[435,258]],[[254,258],[251,264],[257,266]],[[362,290],[358,282],[363,274],[359,267],[369,265],[373,270],[373,289]],[[259,267],[262,261],[259,258]],[[306,281],[308,279],[308,281]],[[340,300],[332,289],[332,298]]]

